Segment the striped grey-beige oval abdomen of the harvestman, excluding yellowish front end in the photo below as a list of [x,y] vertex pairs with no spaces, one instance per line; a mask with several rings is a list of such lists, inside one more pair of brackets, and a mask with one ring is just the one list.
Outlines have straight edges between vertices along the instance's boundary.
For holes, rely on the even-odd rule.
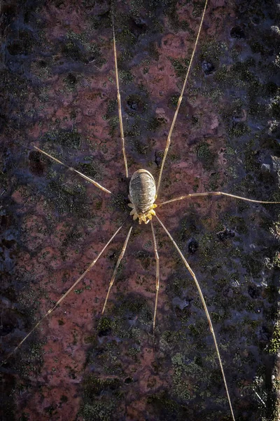
[[137,170],[130,180],[130,199],[137,213],[145,213],[155,201],[155,179],[147,170]]

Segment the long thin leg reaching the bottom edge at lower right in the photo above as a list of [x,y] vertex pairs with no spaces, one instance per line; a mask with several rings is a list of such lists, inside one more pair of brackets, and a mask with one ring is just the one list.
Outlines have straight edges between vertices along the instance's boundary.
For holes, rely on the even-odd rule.
[[167,233],[167,235],[169,236],[169,239],[172,241],[172,243],[173,243],[174,247],[175,247],[175,248],[176,248],[176,250],[178,251],[178,253],[179,253],[179,255],[180,255],[181,259],[183,260],[184,265],[185,265],[185,266],[186,266],[186,268],[188,269],[188,272],[190,272],[191,276],[193,276],[193,280],[195,281],[195,285],[197,286],[198,293],[200,294],[200,299],[202,300],[202,305],[203,305],[203,308],[204,308],[204,312],[205,312],[205,313],[206,313],[206,315],[207,315],[207,320],[208,320],[209,328],[210,328],[210,331],[211,331],[212,337],[213,337],[213,339],[214,339],[214,344],[215,344],[215,347],[216,347],[216,352],[217,352],[217,356],[218,356],[218,361],[219,361],[219,363],[220,363],[221,373],[222,373],[222,375],[223,375],[223,382],[224,382],[224,385],[225,385],[225,391],[227,392],[227,396],[228,396],[228,403],[229,403],[229,405],[230,405],[230,412],[231,412],[231,414],[232,414],[232,420],[233,420],[233,421],[235,421],[235,415],[234,415],[233,410],[232,410],[232,403],[231,403],[231,401],[230,401],[230,394],[229,394],[229,392],[228,392],[228,385],[227,385],[227,381],[225,380],[225,373],[224,373],[224,371],[223,371],[223,363],[222,363],[222,360],[221,360],[221,355],[220,355],[220,352],[219,352],[219,349],[218,349],[218,343],[217,343],[217,340],[216,340],[216,335],[215,335],[215,333],[214,333],[214,328],[213,328],[213,325],[212,325],[212,322],[211,322],[211,317],[210,317],[209,311],[208,311],[208,309],[207,309],[207,305],[206,305],[206,302],[205,302],[205,300],[204,300],[204,296],[203,296],[203,294],[202,294],[202,290],[201,290],[201,288],[200,288],[200,284],[199,284],[199,283],[198,283],[198,281],[197,281],[197,278],[196,278],[196,276],[195,276],[195,272],[193,272],[193,270],[190,268],[190,265],[188,264],[187,260],[183,257],[183,253],[181,252],[180,248],[177,246],[176,242],[175,242],[175,241],[174,241],[174,239],[172,238],[172,236],[171,236],[171,234],[169,233],[168,229],[165,227],[165,225],[163,225],[163,224],[162,224],[162,222],[161,222],[160,218],[158,218],[158,215],[155,215],[155,218],[157,218],[158,222],[160,222],[160,225],[162,226],[162,228],[165,230],[165,232],[166,232],[166,233]]

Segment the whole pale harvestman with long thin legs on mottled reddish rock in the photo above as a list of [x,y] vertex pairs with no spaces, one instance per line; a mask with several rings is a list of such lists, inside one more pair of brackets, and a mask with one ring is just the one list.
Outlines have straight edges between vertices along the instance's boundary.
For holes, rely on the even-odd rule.
[[[197,197],[202,197],[202,196],[229,196],[229,197],[232,197],[233,199],[240,199],[240,200],[248,201],[248,202],[252,202],[252,203],[280,203],[280,202],[273,202],[273,201],[258,201],[258,200],[253,200],[253,199],[247,199],[245,197],[236,196],[234,194],[229,194],[229,193],[225,193],[225,192],[204,192],[204,193],[186,194],[186,195],[179,196],[179,197],[176,197],[176,198],[168,200],[168,201],[155,203],[155,201],[157,201],[158,197],[160,196],[160,185],[161,185],[161,180],[162,180],[162,173],[163,173],[163,170],[165,168],[165,161],[167,159],[167,154],[168,154],[168,151],[169,151],[169,145],[170,145],[170,142],[171,142],[172,133],[173,133],[173,130],[174,130],[174,125],[176,123],[176,118],[177,118],[178,113],[179,113],[179,108],[180,108],[181,101],[182,101],[182,98],[183,98],[183,93],[185,91],[186,83],[188,81],[190,68],[192,67],[193,58],[194,58],[195,51],[196,51],[196,48],[197,48],[197,42],[200,38],[202,23],[204,21],[205,11],[207,9],[207,2],[208,2],[208,0],[206,0],[205,4],[204,4],[204,10],[202,12],[202,18],[201,18],[201,21],[200,21],[200,26],[199,26],[199,29],[197,31],[197,36],[196,36],[196,39],[195,39],[195,46],[193,48],[193,53],[192,53],[191,58],[190,58],[188,70],[186,72],[186,77],[185,77],[185,80],[183,82],[183,88],[181,89],[181,94],[180,94],[179,100],[178,100],[177,105],[176,105],[176,111],[174,113],[172,125],[169,129],[169,134],[167,136],[167,143],[166,143],[166,146],[165,146],[165,152],[164,152],[164,155],[163,155],[163,158],[162,158],[162,163],[161,163],[161,166],[160,166],[160,174],[159,174],[159,178],[158,178],[158,183],[157,184],[155,183],[153,175],[149,171],[147,171],[145,169],[139,169],[139,170],[135,171],[134,174],[132,175],[131,179],[130,179],[129,199],[130,199],[131,203],[129,203],[129,206],[130,206],[130,208],[132,208],[132,210],[130,212],[130,215],[133,216],[133,220],[138,219],[139,224],[141,224],[141,222],[145,222],[145,224],[148,224],[148,222],[151,221],[151,232],[152,232],[152,236],[153,236],[153,248],[154,248],[155,260],[156,260],[156,280],[155,280],[156,295],[155,295],[155,309],[154,309],[154,314],[153,314],[153,333],[155,333],[155,319],[156,319],[156,313],[157,313],[157,307],[158,307],[158,292],[159,292],[159,286],[160,286],[160,260],[159,260],[159,255],[158,255],[157,241],[156,241],[156,238],[155,238],[155,229],[154,229],[154,226],[153,226],[153,217],[155,217],[155,219],[159,222],[161,227],[164,229],[167,236],[169,236],[169,239],[172,241],[174,247],[176,248],[177,252],[179,253],[179,255],[181,257],[181,260],[183,261],[183,264],[188,269],[188,272],[190,272],[190,275],[193,277],[193,280],[195,281],[195,285],[197,286],[197,290],[198,290],[198,293],[199,293],[200,298],[202,300],[202,305],[204,307],[204,311],[207,315],[207,320],[208,320],[208,323],[209,323],[209,329],[211,331],[211,335],[213,337],[214,344],[215,344],[215,347],[216,347],[218,361],[219,361],[221,373],[222,373],[222,376],[223,376],[223,382],[224,382],[224,385],[225,385],[226,394],[228,396],[230,413],[231,413],[231,416],[232,416],[232,420],[235,420],[235,415],[233,413],[232,403],[231,403],[231,400],[230,400],[230,394],[229,394],[229,391],[228,391],[228,385],[227,385],[224,370],[223,370],[223,364],[222,364],[220,352],[219,352],[219,349],[218,349],[216,335],[214,333],[214,328],[213,328],[213,325],[212,325],[212,322],[211,322],[211,317],[209,315],[209,311],[207,309],[207,305],[206,305],[206,302],[204,300],[204,296],[202,294],[200,284],[197,281],[195,273],[190,268],[190,265],[188,265],[188,262],[187,262],[186,258],[184,258],[183,253],[179,249],[179,246],[176,244],[176,242],[172,238],[171,234],[169,233],[168,229],[165,227],[165,225],[163,225],[162,221],[160,220],[160,218],[158,218],[158,215],[156,215],[156,213],[155,213],[155,208],[165,206],[167,203],[172,203],[172,202],[175,202],[175,201],[181,201],[183,199],[191,199],[191,198],[197,198]],[[125,137],[124,137],[124,130],[123,130],[123,117],[122,117],[122,108],[121,108],[120,87],[119,87],[119,77],[118,77],[118,62],[117,62],[117,51],[116,51],[116,36],[115,36],[115,27],[114,27],[114,22],[113,22],[113,16],[112,16],[112,27],[113,27],[113,53],[114,53],[114,61],[115,61],[116,87],[117,87],[117,99],[118,99],[118,117],[119,117],[119,124],[120,124],[120,138],[121,138],[121,142],[122,142],[123,160],[124,160],[124,164],[125,164],[125,176],[128,179],[129,178],[129,172],[128,172],[128,167],[127,167],[127,156],[126,156],[126,151],[125,151]],[[71,167],[67,166],[65,163],[63,163],[62,161],[59,161],[59,159],[56,159],[54,156],[51,156],[50,154],[43,151],[42,149],[40,149],[36,146],[34,146],[34,148],[38,152],[41,152],[42,154],[45,154],[45,156],[48,156],[50,159],[52,159],[53,161],[56,161],[57,163],[66,167],[67,169],[69,169],[70,171],[80,175],[80,177],[84,178],[88,182],[91,182],[95,187],[97,187],[98,189],[101,189],[106,194],[112,194],[112,192],[109,191],[109,189],[106,189],[105,187],[100,185],[98,182],[92,180],[92,178],[87,177],[87,175],[84,175],[83,173],[80,173],[80,171],[76,171],[74,168],[71,168]],[[125,222],[126,222],[126,220],[125,220]],[[85,277],[87,272],[89,272],[90,269],[92,269],[92,267],[95,265],[97,260],[99,260],[99,258],[101,257],[102,253],[104,253],[106,248],[109,246],[111,241],[114,239],[114,237],[123,228],[123,226],[125,225],[125,222],[123,222],[123,224],[116,230],[116,232],[113,234],[113,236],[111,236],[111,239],[109,239],[109,241],[105,244],[105,246],[102,248],[102,250],[97,255],[97,258],[95,258],[92,261],[92,263],[87,267],[85,272],[83,272],[83,274],[73,283],[71,288],[69,288],[66,291],[66,293],[64,293],[64,295],[62,295],[62,297],[59,298],[59,300],[55,303],[55,305],[51,309],[49,309],[47,313],[45,313],[45,315],[38,321],[38,323],[36,323],[36,326],[34,326],[34,328],[31,329],[31,331],[25,336],[25,338],[22,339],[22,341],[19,343],[19,345],[13,350],[13,352],[11,352],[8,355],[8,357],[11,354],[13,354],[17,349],[19,349],[21,347],[22,343],[25,342],[25,340],[27,340],[29,335],[31,335],[31,333],[33,333],[33,331],[40,325],[40,323],[43,321],[43,319],[45,319],[45,317],[49,316],[55,310],[55,308],[64,300],[64,298],[66,298],[66,296],[71,292],[71,290],[73,290],[73,288],[75,288],[77,286],[77,284]],[[125,250],[127,248],[127,243],[129,241],[130,235],[132,233],[132,227],[133,227],[133,224],[130,226],[129,232],[128,232],[128,234],[126,236],[126,239],[125,239],[125,243],[123,244],[123,248],[122,248],[121,253],[118,257],[118,262],[116,263],[116,267],[113,271],[113,276],[111,277],[111,281],[109,283],[109,289],[108,289],[108,292],[106,294],[106,299],[105,299],[105,302],[104,302],[104,307],[102,309],[102,314],[104,314],[104,312],[105,312],[106,304],[107,304],[107,301],[109,299],[109,294],[110,294],[111,288],[113,286],[114,280],[116,278],[118,267],[120,266],[120,262],[123,259],[123,256],[125,254]]]

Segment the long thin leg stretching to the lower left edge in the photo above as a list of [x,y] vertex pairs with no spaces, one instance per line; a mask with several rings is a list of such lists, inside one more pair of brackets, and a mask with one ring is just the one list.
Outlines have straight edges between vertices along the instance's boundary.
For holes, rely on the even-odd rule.
[[[125,220],[126,222],[126,220]],[[90,269],[92,269],[92,267],[94,267],[95,263],[97,262],[97,260],[100,258],[100,256],[102,255],[102,253],[104,253],[104,251],[106,250],[106,248],[109,246],[109,244],[111,243],[111,241],[114,239],[114,237],[118,234],[118,232],[120,232],[120,229],[123,228],[123,226],[125,225],[125,222],[123,222],[123,225],[121,225],[117,231],[115,232],[115,234],[113,234],[111,236],[111,239],[109,239],[109,241],[105,244],[104,248],[102,248],[102,250],[100,251],[100,253],[97,255],[97,257],[90,263],[90,266],[87,267],[87,269],[85,270],[85,272],[83,272],[82,275],[80,275],[80,277],[73,283],[73,285],[69,288],[69,290],[66,291],[66,293],[64,293],[62,295],[62,297],[59,298],[59,300],[55,303],[55,305],[48,310],[48,312],[46,312],[43,317],[38,321],[38,323],[36,323],[36,325],[30,330],[29,333],[27,333],[27,335],[25,336],[25,338],[23,338],[20,343],[18,344],[17,347],[15,347],[15,349],[13,349],[12,352],[10,352],[10,354],[8,354],[8,356],[6,357],[6,361],[10,358],[11,355],[13,355],[23,344],[23,342],[25,342],[25,340],[27,340],[27,338],[29,338],[29,336],[31,335],[31,333],[34,332],[34,330],[36,328],[38,328],[38,326],[42,323],[42,321],[48,317],[56,308],[57,306],[64,300],[64,298],[66,298],[66,296],[71,293],[71,290],[73,290],[73,288],[75,288],[75,286],[85,277],[85,275],[87,274],[87,272],[90,271]],[[3,363],[5,363],[6,361],[3,361],[0,366],[3,365]]]

